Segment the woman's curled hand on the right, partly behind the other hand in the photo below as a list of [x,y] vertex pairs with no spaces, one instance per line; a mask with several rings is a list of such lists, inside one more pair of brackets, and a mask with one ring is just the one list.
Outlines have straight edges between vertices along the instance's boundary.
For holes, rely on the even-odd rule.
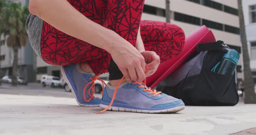
[[141,55],[144,57],[146,62],[145,75],[146,77],[149,77],[157,71],[160,64],[160,57],[154,51],[143,51],[141,52]]

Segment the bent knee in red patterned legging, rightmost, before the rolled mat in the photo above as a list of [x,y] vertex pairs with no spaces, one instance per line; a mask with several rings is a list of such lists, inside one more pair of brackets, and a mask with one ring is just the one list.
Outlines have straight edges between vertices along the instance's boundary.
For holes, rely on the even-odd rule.
[[[141,38],[146,51],[155,51],[161,59],[161,64],[175,58],[183,49],[185,34],[181,27],[171,23],[158,21],[141,21]],[[158,70],[160,74],[165,71]],[[154,74],[147,77],[147,84],[153,84],[158,77]]]

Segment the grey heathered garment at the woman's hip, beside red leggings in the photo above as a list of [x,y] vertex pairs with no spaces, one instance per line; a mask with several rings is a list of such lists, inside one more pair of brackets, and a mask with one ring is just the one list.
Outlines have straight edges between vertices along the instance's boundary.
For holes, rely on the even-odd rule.
[[41,55],[41,34],[43,29],[43,20],[38,16],[29,14],[26,20],[26,32],[29,36],[30,44],[36,55],[42,58]]

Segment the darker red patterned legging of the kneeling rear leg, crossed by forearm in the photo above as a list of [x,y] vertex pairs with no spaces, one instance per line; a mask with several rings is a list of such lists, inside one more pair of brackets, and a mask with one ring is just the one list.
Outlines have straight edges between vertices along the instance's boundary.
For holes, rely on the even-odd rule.
[[[106,27],[107,0],[68,0],[83,15]],[[54,65],[70,65],[86,62],[95,74],[106,72],[108,52],[83,42],[43,22],[41,55],[44,61]]]

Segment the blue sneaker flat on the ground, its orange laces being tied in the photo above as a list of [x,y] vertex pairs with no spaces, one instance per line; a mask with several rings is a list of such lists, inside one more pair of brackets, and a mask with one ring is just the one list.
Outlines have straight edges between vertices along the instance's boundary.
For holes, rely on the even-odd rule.
[[[99,105],[102,109],[106,110],[111,105],[114,91],[115,87],[107,84],[103,92],[102,103]],[[137,82],[119,85],[113,98],[114,101],[107,110],[134,113],[176,113],[185,108],[182,100],[151,90]]]

